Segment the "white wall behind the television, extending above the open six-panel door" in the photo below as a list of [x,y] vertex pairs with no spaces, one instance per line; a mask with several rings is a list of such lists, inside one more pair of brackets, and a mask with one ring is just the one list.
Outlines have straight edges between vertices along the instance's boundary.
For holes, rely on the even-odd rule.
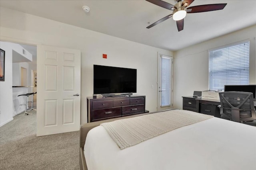
[[2,40],[81,50],[81,123],[87,122],[86,97],[93,94],[93,64],[136,68],[137,94],[146,96],[147,110],[156,111],[157,53],[172,52],[2,7],[0,23]]

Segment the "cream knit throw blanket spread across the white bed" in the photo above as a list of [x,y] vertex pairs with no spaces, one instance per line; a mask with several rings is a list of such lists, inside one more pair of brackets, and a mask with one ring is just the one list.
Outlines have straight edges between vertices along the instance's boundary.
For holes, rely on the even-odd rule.
[[170,110],[128,119],[102,123],[120,149],[131,147],[168,131],[206,119],[204,115],[188,110]]

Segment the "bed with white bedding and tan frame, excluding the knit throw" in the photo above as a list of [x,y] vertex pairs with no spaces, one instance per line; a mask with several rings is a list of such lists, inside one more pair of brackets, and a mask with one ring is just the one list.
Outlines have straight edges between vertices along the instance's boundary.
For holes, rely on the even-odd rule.
[[[174,128],[120,149],[103,126],[118,119],[150,114],[182,113],[168,110],[86,123],[80,128],[81,170],[254,170],[256,127],[210,117]],[[202,115],[192,111],[192,114]],[[190,114],[189,113],[189,114]],[[150,115],[150,116],[152,116]],[[140,116],[140,117],[137,117]],[[129,118],[129,119],[128,119]],[[122,121],[122,120],[121,120]],[[103,125],[100,125],[102,124]]]

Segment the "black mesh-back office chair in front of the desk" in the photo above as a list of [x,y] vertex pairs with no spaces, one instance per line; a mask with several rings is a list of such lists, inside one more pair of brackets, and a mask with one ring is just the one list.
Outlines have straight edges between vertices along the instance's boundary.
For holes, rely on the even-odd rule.
[[249,92],[219,92],[223,119],[256,126],[253,95]]

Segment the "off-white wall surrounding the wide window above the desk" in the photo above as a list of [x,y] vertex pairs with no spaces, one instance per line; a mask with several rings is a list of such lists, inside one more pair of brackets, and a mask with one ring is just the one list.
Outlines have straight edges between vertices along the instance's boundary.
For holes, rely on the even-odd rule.
[[256,84],[256,25],[174,52],[174,107],[182,109],[182,96],[208,90],[208,50],[248,39],[250,84]]

